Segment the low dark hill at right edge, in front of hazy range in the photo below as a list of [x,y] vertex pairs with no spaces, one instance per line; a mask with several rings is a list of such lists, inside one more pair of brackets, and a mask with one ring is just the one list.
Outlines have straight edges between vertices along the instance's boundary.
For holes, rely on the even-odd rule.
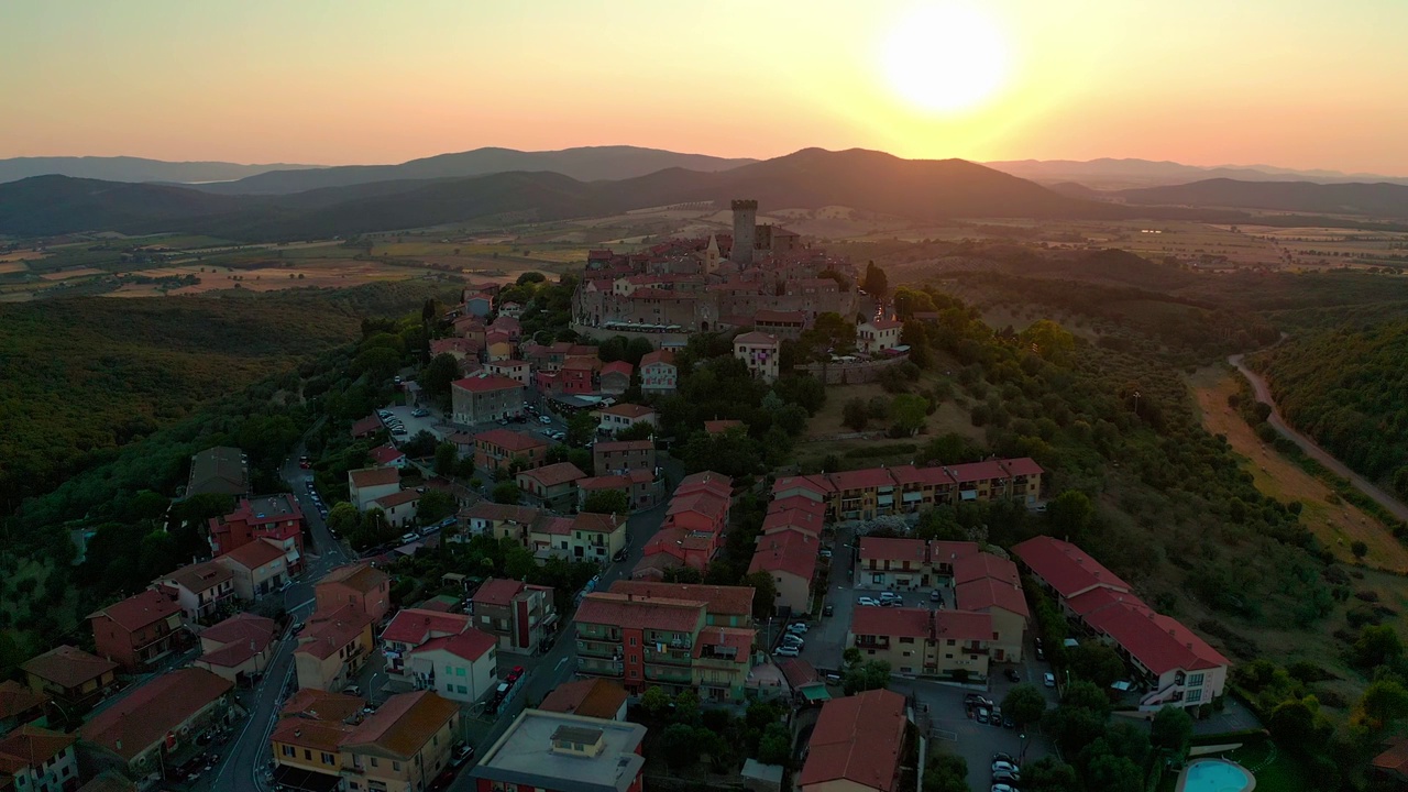
[[1388,183],[1316,185],[1205,179],[1188,185],[1111,193],[1133,204],[1246,207],[1311,214],[1408,218],[1408,186]]

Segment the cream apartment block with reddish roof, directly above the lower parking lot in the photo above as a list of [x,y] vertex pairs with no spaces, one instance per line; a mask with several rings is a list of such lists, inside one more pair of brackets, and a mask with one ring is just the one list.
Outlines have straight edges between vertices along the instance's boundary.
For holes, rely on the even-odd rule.
[[846,645],[884,660],[895,674],[983,681],[988,676],[993,617],[928,607],[856,607]]

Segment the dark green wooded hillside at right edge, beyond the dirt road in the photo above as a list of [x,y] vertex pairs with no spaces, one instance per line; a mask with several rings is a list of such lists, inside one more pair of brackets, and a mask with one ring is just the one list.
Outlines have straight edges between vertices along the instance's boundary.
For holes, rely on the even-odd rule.
[[1408,497],[1408,321],[1294,338],[1255,365],[1287,421]]

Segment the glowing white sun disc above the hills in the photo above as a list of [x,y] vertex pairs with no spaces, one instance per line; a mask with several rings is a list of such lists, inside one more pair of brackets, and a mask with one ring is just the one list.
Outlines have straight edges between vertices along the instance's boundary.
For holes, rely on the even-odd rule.
[[881,44],[890,87],[934,113],[967,110],[1007,76],[1007,45],[990,17],[957,4],[915,8]]

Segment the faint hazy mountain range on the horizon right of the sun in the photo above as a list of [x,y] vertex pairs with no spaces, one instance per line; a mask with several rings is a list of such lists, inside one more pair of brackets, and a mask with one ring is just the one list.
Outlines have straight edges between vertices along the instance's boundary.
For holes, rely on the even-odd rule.
[[1201,168],[1180,162],[1150,159],[1017,159],[984,162],[988,168],[1031,179],[1043,185],[1074,182],[1098,190],[1184,185],[1205,179],[1238,179],[1242,182],[1388,182],[1408,185],[1408,178],[1376,173],[1340,173],[1339,171],[1293,171],[1271,165],[1222,165]]

